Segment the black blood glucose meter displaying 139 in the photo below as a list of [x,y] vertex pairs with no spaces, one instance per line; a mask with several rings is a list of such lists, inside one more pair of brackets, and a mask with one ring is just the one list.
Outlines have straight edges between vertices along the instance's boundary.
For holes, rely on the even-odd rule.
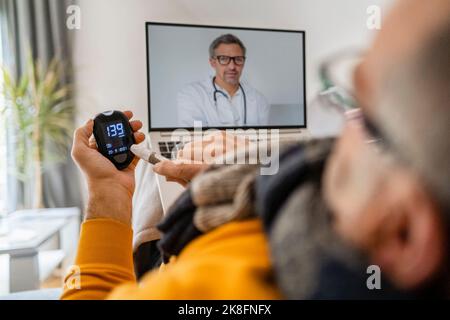
[[119,170],[127,168],[134,159],[130,147],[135,143],[133,130],[125,114],[106,111],[94,118],[94,137],[98,151]]

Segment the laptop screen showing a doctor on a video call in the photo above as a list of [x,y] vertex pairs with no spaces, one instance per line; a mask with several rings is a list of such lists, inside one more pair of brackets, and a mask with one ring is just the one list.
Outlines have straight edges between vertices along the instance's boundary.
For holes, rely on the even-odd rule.
[[305,128],[303,31],[146,23],[150,131]]

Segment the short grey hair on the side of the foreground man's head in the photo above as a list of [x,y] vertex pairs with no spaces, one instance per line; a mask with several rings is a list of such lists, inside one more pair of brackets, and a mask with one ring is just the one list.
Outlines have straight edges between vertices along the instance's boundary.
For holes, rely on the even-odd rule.
[[[399,155],[450,210],[450,21],[385,82],[377,115]],[[394,138],[395,137],[395,138]],[[450,219],[450,215],[447,215]]]

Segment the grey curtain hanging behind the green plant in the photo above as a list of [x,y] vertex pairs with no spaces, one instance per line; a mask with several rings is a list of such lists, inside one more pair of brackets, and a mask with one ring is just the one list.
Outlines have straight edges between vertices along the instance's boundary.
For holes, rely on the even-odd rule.
[[[27,54],[44,66],[58,57],[68,68],[64,82],[72,80],[71,45],[73,32],[66,27],[69,0],[0,0],[3,57],[16,75],[22,74]],[[14,165],[14,141],[8,136],[8,164]],[[51,146],[49,146],[51,148]],[[50,165],[43,174],[43,199],[46,207],[81,207],[76,168],[67,149],[66,160]],[[24,206],[25,186],[13,175],[8,176],[8,211]]]

